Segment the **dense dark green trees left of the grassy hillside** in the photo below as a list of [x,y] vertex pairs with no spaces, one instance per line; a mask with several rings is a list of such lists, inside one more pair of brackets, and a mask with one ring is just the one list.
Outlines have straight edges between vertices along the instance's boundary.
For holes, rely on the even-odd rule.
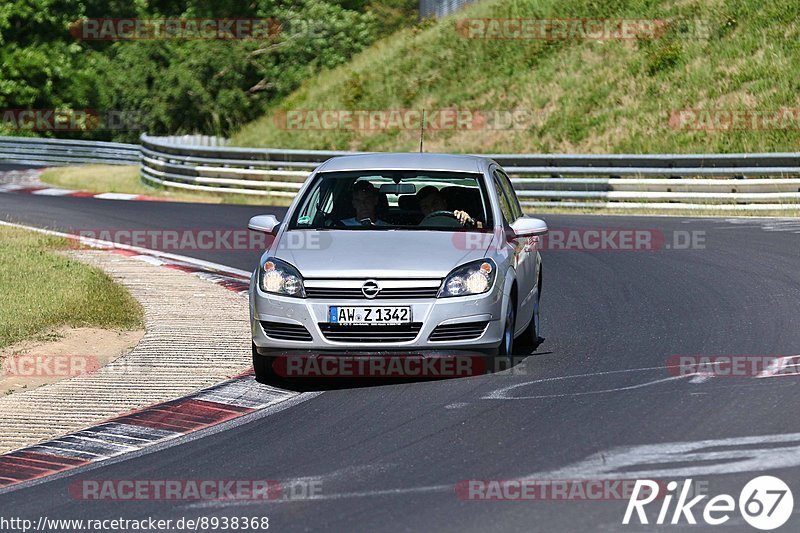
[[[346,62],[377,38],[381,24],[405,24],[413,12],[407,0],[381,8],[351,4],[12,0],[0,7],[0,107],[133,117],[129,131],[62,137],[135,141],[138,130],[228,135],[304,79]],[[270,18],[282,26],[266,40],[76,41],[70,25],[87,17]]]

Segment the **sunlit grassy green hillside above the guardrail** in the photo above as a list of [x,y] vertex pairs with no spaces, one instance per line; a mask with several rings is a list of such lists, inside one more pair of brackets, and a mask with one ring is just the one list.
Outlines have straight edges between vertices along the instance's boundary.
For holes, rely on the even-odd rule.
[[[465,38],[470,27],[465,19],[484,17],[657,19],[663,25],[654,36],[625,40],[590,40],[576,33],[554,39]],[[428,151],[798,151],[798,20],[795,0],[484,1],[401,30],[349,63],[308,79],[233,141],[410,151],[419,143],[413,128],[330,129],[313,122],[287,128],[285,114],[455,108],[528,115],[514,128],[487,128],[478,121],[472,128],[430,130]],[[684,115],[689,119],[677,124],[676,111],[687,109],[707,114]],[[733,128],[726,122],[732,112],[746,112]],[[709,124],[712,131],[704,129]]]

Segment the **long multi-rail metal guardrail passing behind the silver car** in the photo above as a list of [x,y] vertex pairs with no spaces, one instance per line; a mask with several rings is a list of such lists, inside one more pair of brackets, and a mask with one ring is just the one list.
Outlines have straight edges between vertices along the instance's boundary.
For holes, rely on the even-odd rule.
[[[292,197],[321,162],[358,152],[187,146],[143,135],[145,182]],[[488,154],[528,207],[800,209],[800,153]]]

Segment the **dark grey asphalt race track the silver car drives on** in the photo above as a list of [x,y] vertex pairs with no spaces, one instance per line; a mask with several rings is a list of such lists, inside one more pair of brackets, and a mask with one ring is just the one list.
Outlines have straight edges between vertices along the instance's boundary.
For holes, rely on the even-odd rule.
[[[282,214],[0,194],[0,218],[62,230],[241,229],[265,212]],[[781,530],[800,528],[800,378],[677,378],[664,368],[679,354],[800,353],[800,221],[544,218],[553,230],[655,230],[667,244],[682,238],[676,232],[702,232],[704,243],[543,252],[545,341],[513,372],[329,388],[204,438],[2,494],[0,516],[269,516],[278,531],[674,531],[686,522],[623,526],[626,501],[465,501],[454,486],[649,476],[693,478],[712,495],[738,498],[748,480],[771,474],[795,494]],[[179,253],[244,270],[258,255]],[[686,442],[697,444],[676,444]],[[68,493],[76,479],[313,479],[321,494],[270,503],[80,501]],[[658,504],[648,513],[655,520]],[[694,514],[702,523],[702,510]],[[754,531],[731,516],[724,530]]]

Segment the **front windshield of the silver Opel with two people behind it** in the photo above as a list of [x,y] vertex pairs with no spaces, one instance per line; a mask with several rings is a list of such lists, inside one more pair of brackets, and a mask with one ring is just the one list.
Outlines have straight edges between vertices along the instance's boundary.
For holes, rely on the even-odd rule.
[[482,174],[408,170],[320,172],[289,221],[290,229],[491,227]]

